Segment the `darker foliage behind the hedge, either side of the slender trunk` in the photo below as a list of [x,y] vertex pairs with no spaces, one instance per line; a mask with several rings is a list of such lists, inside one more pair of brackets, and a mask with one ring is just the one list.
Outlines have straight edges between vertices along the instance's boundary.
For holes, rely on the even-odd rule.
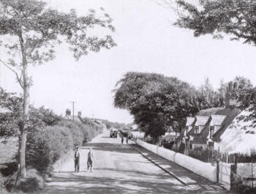
[[[19,125],[22,120],[22,101],[23,98],[17,96],[15,93],[7,93],[0,88],[0,107],[6,109],[5,112],[0,113],[0,136],[10,137],[19,136]],[[54,114],[52,110],[45,109],[45,107],[34,108],[29,107],[29,120],[27,121],[27,130],[39,131],[45,126],[53,126],[59,123],[61,117]]]

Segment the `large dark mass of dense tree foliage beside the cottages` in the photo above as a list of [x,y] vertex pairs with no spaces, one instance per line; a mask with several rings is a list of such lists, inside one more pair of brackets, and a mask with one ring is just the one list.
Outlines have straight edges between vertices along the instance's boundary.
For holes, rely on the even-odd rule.
[[200,109],[222,106],[223,100],[209,82],[197,90],[176,77],[128,72],[116,85],[114,104],[127,109],[134,123],[157,139],[173,128],[180,131],[187,116]]

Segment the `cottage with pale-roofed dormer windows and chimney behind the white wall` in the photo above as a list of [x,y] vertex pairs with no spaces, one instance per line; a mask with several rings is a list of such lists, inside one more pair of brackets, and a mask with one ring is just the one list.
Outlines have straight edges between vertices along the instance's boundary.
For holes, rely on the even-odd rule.
[[188,149],[219,149],[223,133],[241,113],[238,102],[230,99],[230,90],[238,87],[236,82],[229,82],[225,93],[225,108],[201,110],[195,117],[187,117],[183,130],[184,143]]

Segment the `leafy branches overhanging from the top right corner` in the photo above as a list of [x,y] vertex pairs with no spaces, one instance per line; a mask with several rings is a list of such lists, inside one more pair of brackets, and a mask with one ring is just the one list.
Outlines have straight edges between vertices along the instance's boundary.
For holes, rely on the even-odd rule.
[[256,1],[254,0],[204,0],[199,5],[186,0],[176,1],[178,19],[176,26],[194,31],[195,36],[212,34],[231,40],[243,39],[244,43],[256,44]]

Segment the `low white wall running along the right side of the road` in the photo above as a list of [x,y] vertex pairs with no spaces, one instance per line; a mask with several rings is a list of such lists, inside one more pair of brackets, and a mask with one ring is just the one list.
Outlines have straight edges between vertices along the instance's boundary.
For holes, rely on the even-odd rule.
[[172,150],[167,150],[163,147],[157,147],[144,141],[137,140],[137,144],[146,148],[146,150],[162,156],[162,158],[189,169],[189,171],[192,171],[195,174],[203,176],[212,182],[217,182],[217,167],[212,166],[211,163],[203,163],[202,161],[191,158],[187,155],[182,155],[180,153],[173,152]]

